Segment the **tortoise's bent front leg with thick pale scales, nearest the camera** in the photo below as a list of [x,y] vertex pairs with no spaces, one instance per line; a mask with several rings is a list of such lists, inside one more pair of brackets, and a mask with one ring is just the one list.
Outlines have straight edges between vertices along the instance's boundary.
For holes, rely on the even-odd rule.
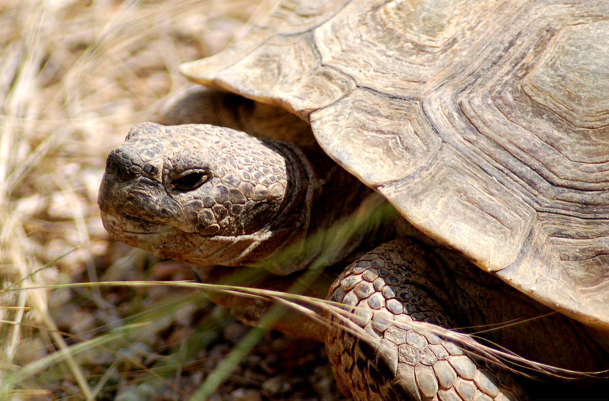
[[[340,388],[356,400],[519,399],[518,387],[502,386],[504,377],[482,367],[459,344],[408,327],[412,321],[456,327],[440,304],[447,296],[432,281],[435,263],[440,262],[414,241],[394,240],[340,274],[329,299],[357,307],[354,321],[375,339],[357,338],[328,315],[333,324],[326,348]],[[397,320],[406,326],[393,324]]]

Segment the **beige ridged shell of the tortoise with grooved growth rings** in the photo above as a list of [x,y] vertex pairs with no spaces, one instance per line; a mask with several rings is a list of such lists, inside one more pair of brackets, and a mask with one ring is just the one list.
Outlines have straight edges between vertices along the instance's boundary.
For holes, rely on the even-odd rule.
[[194,82],[311,122],[410,222],[609,341],[609,2],[301,0]]

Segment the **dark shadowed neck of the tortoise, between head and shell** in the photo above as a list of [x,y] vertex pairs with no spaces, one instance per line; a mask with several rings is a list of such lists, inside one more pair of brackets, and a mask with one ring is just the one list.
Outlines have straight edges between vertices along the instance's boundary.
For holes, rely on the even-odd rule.
[[392,232],[392,222],[363,221],[376,218],[373,212],[384,199],[377,194],[381,201],[370,201],[373,191],[317,145],[273,141],[270,146],[289,166],[286,200],[268,228],[267,245],[258,246],[256,262],[248,265],[275,274],[331,265],[356,254],[362,243],[378,245],[379,235]]

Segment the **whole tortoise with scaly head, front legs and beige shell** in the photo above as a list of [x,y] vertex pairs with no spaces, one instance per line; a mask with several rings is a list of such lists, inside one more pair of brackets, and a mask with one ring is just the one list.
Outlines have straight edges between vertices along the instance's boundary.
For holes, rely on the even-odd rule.
[[[354,399],[522,399],[521,385],[564,399],[551,378],[531,386],[414,323],[526,321],[484,335],[554,366],[609,368],[608,66],[603,0],[284,0],[181,66],[211,89],[108,156],[102,219],[202,276],[265,267],[273,288],[340,237],[324,265],[344,271],[311,293],[356,307],[370,337],[331,317],[276,327],[325,338]],[[331,231],[373,215],[374,194],[399,214]],[[567,382],[579,399],[609,384]]]

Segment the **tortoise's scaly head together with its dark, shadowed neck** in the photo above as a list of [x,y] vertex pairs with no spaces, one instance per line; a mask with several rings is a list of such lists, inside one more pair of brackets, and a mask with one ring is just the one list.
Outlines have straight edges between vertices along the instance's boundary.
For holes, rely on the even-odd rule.
[[[323,234],[305,239],[350,215],[370,192],[319,148],[211,125],[143,123],[108,156],[99,206],[115,239],[160,257],[289,274],[327,242]],[[278,253],[289,258],[262,262]]]

